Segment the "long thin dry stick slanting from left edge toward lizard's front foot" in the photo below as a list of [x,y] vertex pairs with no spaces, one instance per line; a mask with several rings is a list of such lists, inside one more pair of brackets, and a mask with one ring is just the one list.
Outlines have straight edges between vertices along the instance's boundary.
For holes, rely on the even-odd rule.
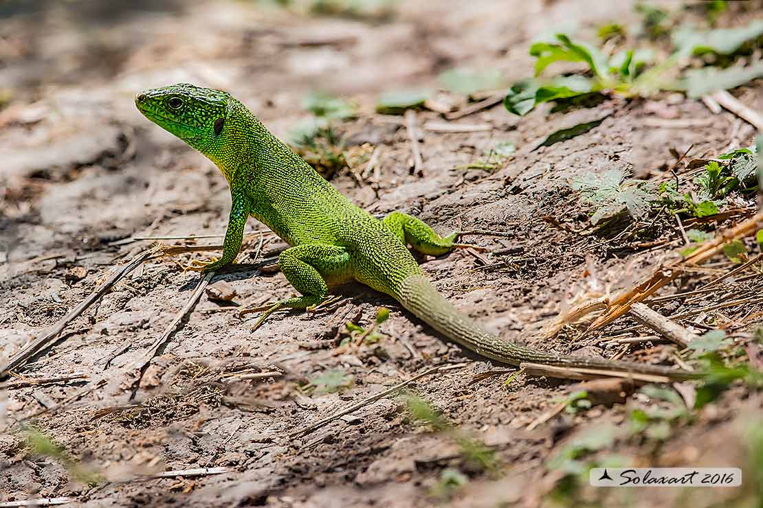
[[56,325],[47,332],[47,334],[44,334],[42,337],[38,337],[37,339],[31,340],[31,342],[22,347],[18,353],[12,356],[11,359],[5,363],[5,365],[0,366],[0,378],[4,377],[11,369],[18,369],[19,367],[23,366],[24,363],[27,363],[27,360],[35,354],[40,353],[40,351],[46,350],[48,347],[52,346],[56,341],[58,334],[60,334],[63,329],[66,328],[67,324],[79,317],[79,315],[81,315],[82,312],[85,312],[85,310],[90,305],[100,299],[101,296],[104,296],[105,293],[111,289],[111,286],[114,286],[118,280],[138,267],[141,263],[143,263],[143,260],[145,260],[146,257],[149,257],[155,252],[156,248],[150,249],[148,251],[143,251],[133,257],[132,260],[130,260],[130,263],[122,265],[119,270],[114,272],[108,278],[108,280],[106,280],[105,283],[101,284],[98,289],[90,293],[90,295],[84,299],[82,303],[69,311],[69,314],[61,318],[58,323],[56,323]]

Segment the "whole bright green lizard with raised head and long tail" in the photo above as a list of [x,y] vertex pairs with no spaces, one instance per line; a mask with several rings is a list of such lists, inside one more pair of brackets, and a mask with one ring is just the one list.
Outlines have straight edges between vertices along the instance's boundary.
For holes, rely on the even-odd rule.
[[666,366],[543,353],[485,331],[432,286],[407,248],[439,256],[454,248],[458,232],[438,235],[414,216],[391,212],[383,220],[320,177],[246,107],[224,91],[172,85],[137,94],[143,115],[206,155],[230,185],[232,206],[223,254],[201,270],[233,262],[249,216],[264,222],[290,248],[278,265],[300,296],[273,302],[257,325],[281,308],[311,310],[329,286],[356,280],[398,300],[436,331],[501,363],[543,363],[638,374],[687,377]]

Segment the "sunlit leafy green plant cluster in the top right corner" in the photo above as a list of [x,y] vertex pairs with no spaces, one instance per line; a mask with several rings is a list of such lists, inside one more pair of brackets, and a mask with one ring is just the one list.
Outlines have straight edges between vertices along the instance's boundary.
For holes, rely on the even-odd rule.
[[[664,33],[665,12],[644,5],[639,6],[639,10],[645,13],[646,26],[652,36]],[[763,21],[732,29],[682,27],[671,37],[674,52],[662,62],[654,61],[654,52],[649,48],[622,50],[608,56],[594,46],[572,40],[568,34],[555,34],[552,39],[539,40],[530,46],[530,55],[536,57],[535,77],[514,83],[506,94],[504,106],[522,116],[544,102],[569,101],[592,94],[634,97],[678,90],[687,92],[690,97],[699,97],[710,91],[735,88],[763,75],[763,62],[729,69],[713,66],[690,69],[679,79],[675,78],[676,70],[680,70],[679,65],[689,56],[732,55],[761,34]],[[540,78],[543,70],[554,62],[582,62],[588,67],[588,75]]]

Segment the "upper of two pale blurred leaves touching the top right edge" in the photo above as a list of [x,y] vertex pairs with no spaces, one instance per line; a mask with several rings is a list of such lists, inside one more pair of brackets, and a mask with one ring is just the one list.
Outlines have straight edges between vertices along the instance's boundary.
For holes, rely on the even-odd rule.
[[682,56],[702,53],[730,55],[750,40],[763,35],[763,21],[753,21],[741,28],[716,28],[715,30],[697,30],[693,27],[681,27],[671,34],[674,46]]

